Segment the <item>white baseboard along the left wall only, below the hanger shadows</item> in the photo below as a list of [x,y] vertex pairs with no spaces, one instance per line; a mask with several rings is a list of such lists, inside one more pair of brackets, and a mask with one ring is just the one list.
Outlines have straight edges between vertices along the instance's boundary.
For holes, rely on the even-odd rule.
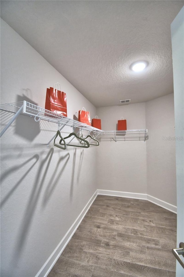
[[97,197],[97,190],[35,277],[47,276]]

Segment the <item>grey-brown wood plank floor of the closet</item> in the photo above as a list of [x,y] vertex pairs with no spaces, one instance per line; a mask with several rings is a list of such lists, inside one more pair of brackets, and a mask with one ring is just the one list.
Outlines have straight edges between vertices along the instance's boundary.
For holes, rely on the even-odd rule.
[[98,195],[48,277],[175,277],[177,215]]

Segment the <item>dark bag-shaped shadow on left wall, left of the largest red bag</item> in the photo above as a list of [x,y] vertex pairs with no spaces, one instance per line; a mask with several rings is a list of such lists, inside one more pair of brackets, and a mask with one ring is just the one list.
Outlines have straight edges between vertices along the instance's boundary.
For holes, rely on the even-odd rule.
[[[26,89],[30,91],[29,89]],[[33,102],[30,98],[23,95],[17,95],[17,101],[16,102],[22,102],[23,100],[26,100],[27,102],[30,102],[32,104],[38,105],[37,103]],[[15,125],[15,133],[18,136],[21,136],[28,141],[33,141],[33,139],[39,134],[40,132],[40,125],[39,122],[36,122],[34,120],[34,117],[29,116],[22,116],[19,115],[16,118],[16,125]]]

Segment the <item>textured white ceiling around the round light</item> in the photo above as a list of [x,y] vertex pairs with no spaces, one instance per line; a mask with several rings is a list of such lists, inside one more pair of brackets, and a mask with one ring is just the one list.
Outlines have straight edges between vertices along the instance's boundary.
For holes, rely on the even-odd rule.
[[[184,1],[1,1],[1,18],[96,107],[173,92],[170,24]],[[134,61],[146,60],[143,73]],[[57,81],[57,80],[56,80]],[[48,84],[49,85],[49,84]]]

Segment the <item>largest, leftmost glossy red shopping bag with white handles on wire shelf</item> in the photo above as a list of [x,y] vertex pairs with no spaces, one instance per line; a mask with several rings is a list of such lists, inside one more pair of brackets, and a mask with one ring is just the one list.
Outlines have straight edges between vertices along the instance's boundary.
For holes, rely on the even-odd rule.
[[[67,117],[66,93],[57,89],[58,84],[60,85],[55,83],[53,87],[47,88],[45,109]],[[54,88],[55,85],[56,88]]]

